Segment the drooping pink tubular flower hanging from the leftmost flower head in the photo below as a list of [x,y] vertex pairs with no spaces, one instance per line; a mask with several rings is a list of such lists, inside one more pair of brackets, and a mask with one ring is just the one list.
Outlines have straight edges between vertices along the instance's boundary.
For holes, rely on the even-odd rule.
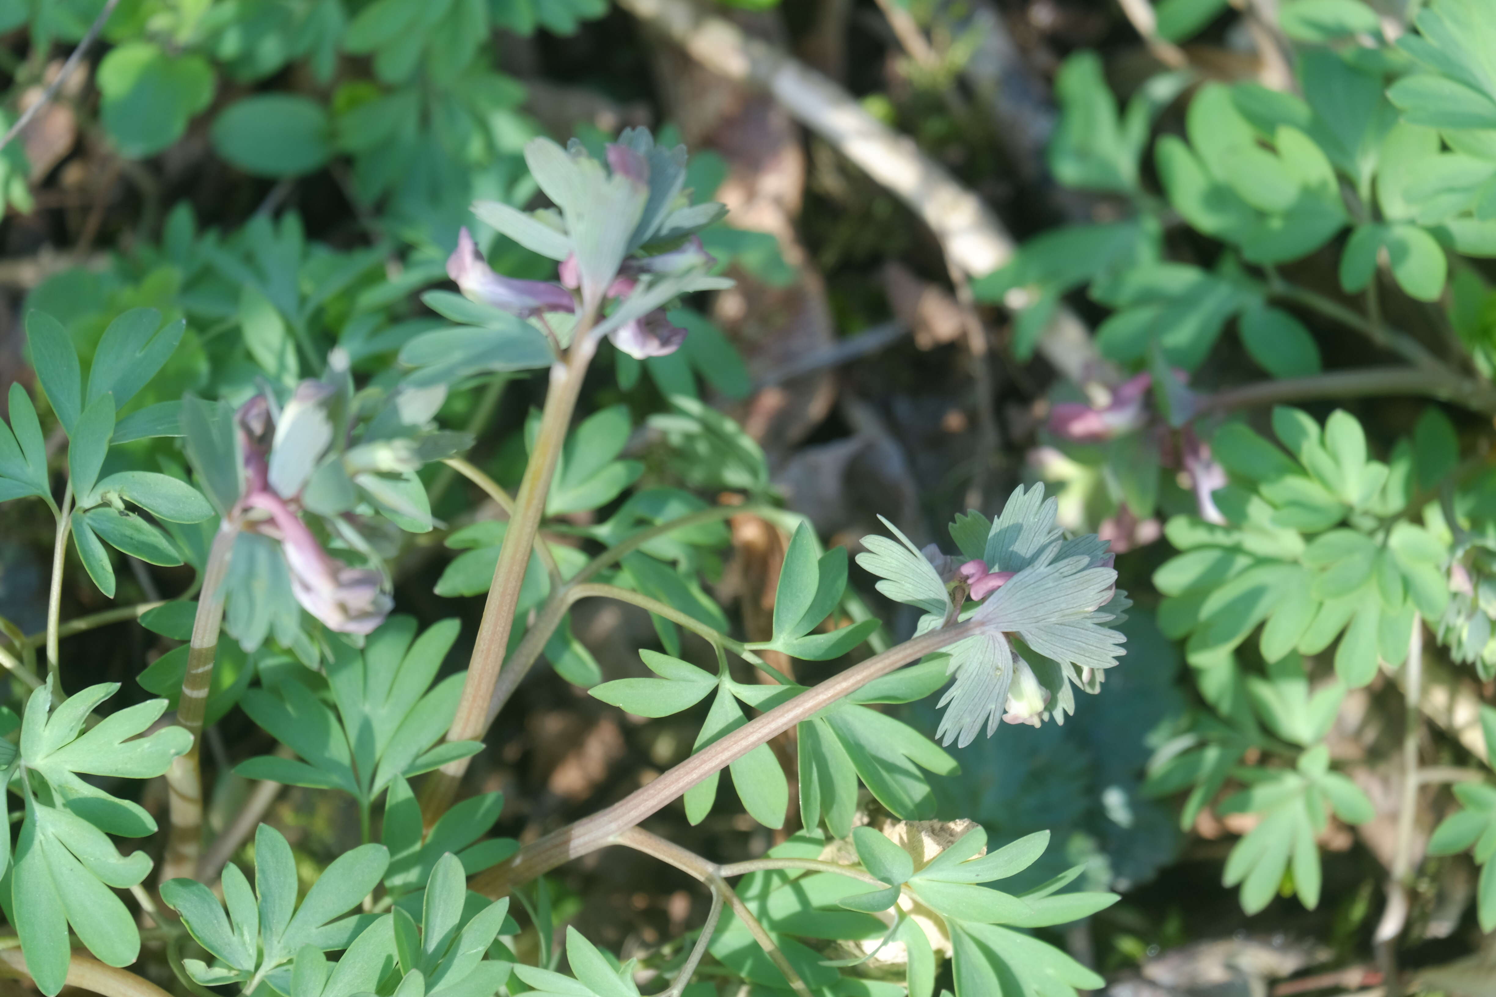
[[370,634],[384,622],[395,604],[378,571],[355,568],[331,556],[272,492],[250,495],[245,505],[271,514],[290,568],[292,593],[304,610],[340,634]]

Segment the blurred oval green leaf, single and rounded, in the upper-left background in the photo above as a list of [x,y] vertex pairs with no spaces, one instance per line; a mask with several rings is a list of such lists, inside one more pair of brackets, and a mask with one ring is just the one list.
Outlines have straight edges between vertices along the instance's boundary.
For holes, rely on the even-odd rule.
[[212,123],[218,155],[254,176],[302,176],[332,158],[326,109],[299,94],[254,94]]

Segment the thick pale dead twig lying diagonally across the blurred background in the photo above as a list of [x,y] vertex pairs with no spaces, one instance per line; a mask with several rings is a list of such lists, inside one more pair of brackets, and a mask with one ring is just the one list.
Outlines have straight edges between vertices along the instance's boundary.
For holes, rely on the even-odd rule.
[[[830,79],[691,0],[619,0],[619,6],[708,69],[773,94],[803,126],[908,205],[963,274],[981,277],[1013,259],[1013,236],[975,193]],[[1103,366],[1085,323],[1067,308],[1058,311],[1040,351],[1071,380]]]

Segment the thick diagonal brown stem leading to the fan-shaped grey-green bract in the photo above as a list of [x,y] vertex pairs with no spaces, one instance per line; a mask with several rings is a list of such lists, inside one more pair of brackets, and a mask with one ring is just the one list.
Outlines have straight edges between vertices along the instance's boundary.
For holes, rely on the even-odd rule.
[[793,700],[781,703],[767,713],[754,717],[721,740],[708,744],[648,786],[636,789],[606,810],[600,810],[589,818],[583,818],[570,827],[564,827],[527,845],[503,865],[474,876],[468,883],[470,888],[489,897],[504,897],[515,886],[530,882],[557,865],[612,845],[618,840],[619,834],[660,812],[714,771],[721,771],[752,749],[766,744],[800,720],[856,692],[874,679],[886,676],[911,661],[919,661],[925,655],[953,644],[963,637],[969,637],[978,629],[980,623],[974,620],[944,626],[898,647],[890,647],[881,655],[874,655],[868,661],[832,676],[818,686],[806,689]]

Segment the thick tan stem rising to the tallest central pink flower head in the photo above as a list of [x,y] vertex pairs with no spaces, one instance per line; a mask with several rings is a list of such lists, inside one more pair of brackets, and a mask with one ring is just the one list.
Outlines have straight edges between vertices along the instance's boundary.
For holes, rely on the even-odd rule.
[[[540,519],[546,510],[546,493],[551,490],[561,445],[571,426],[571,413],[582,393],[582,381],[586,380],[586,368],[597,353],[597,344],[588,333],[591,324],[591,320],[583,317],[573,333],[571,353],[565,363],[558,362],[551,368],[551,390],[540,414],[540,432],[530,463],[525,466],[525,477],[519,483],[519,493],[515,496],[515,516],[509,520],[504,543],[498,550],[494,583],[483,605],[483,622],[479,625],[473,658],[468,662],[462,700],[447,729],[449,741],[480,738],[488,728],[488,707],[494,700],[494,685],[498,682],[504,652],[509,649],[515,607],[519,602],[519,589],[525,580]],[[431,773],[426,779],[420,809],[428,827],[452,806],[467,767],[468,759],[464,758]]]

